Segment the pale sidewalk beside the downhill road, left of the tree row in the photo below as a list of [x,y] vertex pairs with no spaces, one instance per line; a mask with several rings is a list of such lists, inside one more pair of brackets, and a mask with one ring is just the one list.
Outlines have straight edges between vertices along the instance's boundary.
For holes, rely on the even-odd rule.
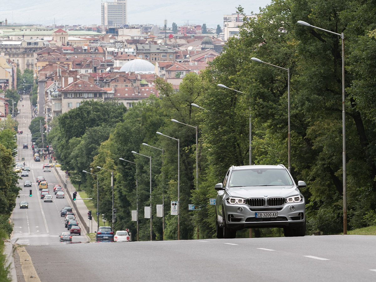
[[83,200],[79,199],[80,198],[79,192],[77,192],[77,196],[76,196],[77,200],[73,201],[72,194],[73,194],[74,191],[76,191],[76,189],[74,188],[74,186],[72,185],[70,180],[68,180],[65,177],[65,171],[62,171],[60,167],[53,167],[53,171],[58,175],[58,179],[60,179],[62,187],[65,188],[66,194],[68,194],[67,199],[71,203],[74,202],[73,208],[75,209],[76,214],[77,214],[82,226],[84,227],[83,229],[85,229],[85,232],[86,233],[93,233],[94,231],[98,230],[98,224],[94,220],[94,216],[93,216],[92,220],[89,220],[89,218],[88,218],[89,210],[86,207]]

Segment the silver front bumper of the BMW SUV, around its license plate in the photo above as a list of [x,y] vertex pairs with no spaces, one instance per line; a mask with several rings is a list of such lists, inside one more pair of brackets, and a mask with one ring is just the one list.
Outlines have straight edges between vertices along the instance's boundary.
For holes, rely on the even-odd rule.
[[[290,207],[294,210],[291,211]],[[241,211],[238,210],[241,208]],[[256,217],[256,212],[278,212],[278,217]],[[277,207],[250,207],[247,204],[230,205],[224,203],[224,216],[227,227],[233,229],[262,227],[297,227],[305,222],[305,202],[285,203]],[[219,220],[218,220],[219,221]]]

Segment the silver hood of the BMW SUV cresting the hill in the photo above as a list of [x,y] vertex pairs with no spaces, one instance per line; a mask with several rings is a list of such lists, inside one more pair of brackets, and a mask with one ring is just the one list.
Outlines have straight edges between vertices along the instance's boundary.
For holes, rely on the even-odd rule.
[[289,197],[301,194],[296,186],[247,186],[229,188],[228,193],[233,197],[270,198]]

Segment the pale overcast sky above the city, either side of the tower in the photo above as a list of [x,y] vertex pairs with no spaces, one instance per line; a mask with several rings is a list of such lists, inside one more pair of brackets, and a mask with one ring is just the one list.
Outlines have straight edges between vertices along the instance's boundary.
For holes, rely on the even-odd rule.
[[[208,28],[223,26],[223,15],[233,14],[240,5],[247,14],[258,13],[259,8],[272,0],[128,0],[129,24],[172,23],[206,24]],[[43,25],[101,24],[101,0],[4,0],[0,9],[0,21],[9,23]],[[104,2],[113,2],[107,0]],[[223,28],[223,27],[222,27]]]

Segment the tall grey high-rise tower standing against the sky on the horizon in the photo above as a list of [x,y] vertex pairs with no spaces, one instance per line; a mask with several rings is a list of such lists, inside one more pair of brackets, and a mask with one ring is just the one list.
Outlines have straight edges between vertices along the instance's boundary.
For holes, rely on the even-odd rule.
[[127,24],[127,0],[102,2],[102,24],[105,26],[124,26]]

